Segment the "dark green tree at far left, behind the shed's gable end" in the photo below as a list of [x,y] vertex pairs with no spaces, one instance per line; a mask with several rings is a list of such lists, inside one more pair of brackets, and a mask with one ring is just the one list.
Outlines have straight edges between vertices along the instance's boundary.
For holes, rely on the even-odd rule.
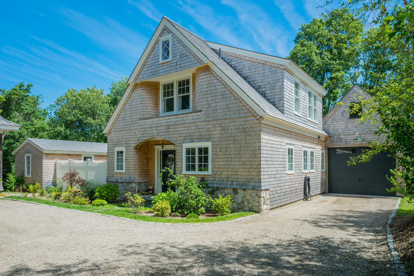
[[3,176],[14,171],[14,156],[12,151],[25,138],[47,138],[47,110],[40,107],[43,102],[41,95],[33,95],[30,89],[33,85],[20,82],[10,90],[0,89],[5,101],[0,102],[2,116],[21,125],[19,130],[10,131],[3,138]]

